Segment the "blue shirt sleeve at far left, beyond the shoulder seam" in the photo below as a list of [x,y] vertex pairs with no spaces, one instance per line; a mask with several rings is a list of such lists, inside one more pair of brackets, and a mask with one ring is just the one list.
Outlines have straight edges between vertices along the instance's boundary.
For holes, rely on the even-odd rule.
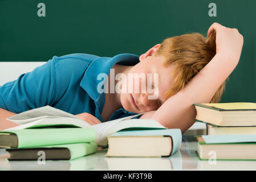
[[52,105],[56,90],[54,57],[47,63],[24,73],[17,80],[0,86],[0,107],[13,113],[21,113],[46,105]]

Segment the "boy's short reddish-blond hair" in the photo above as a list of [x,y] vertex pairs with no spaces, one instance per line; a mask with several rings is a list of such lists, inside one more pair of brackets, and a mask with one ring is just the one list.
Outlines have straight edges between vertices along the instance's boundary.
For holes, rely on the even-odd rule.
[[[164,94],[169,98],[182,90],[186,84],[216,55],[216,32],[204,37],[198,33],[185,34],[166,38],[155,55],[164,56],[164,67],[173,65],[171,74],[173,84]],[[214,75],[213,75],[214,76]],[[222,93],[225,90],[225,82],[214,94],[210,102],[220,101]]]

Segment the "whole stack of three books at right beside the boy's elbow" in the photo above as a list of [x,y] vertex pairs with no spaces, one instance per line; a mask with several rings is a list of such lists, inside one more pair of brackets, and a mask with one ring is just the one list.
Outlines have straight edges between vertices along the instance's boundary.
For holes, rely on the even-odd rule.
[[[201,159],[256,159],[256,103],[194,104],[196,121],[206,123],[206,135],[197,136]],[[246,154],[245,154],[246,152]],[[248,155],[247,155],[248,154]]]

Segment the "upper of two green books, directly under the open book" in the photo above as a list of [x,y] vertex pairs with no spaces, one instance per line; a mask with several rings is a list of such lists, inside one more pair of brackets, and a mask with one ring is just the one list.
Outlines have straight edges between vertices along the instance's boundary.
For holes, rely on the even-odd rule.
[[0,131],[0,147],[25,148],[56,144],[95,142],[92,128],[46,128]]

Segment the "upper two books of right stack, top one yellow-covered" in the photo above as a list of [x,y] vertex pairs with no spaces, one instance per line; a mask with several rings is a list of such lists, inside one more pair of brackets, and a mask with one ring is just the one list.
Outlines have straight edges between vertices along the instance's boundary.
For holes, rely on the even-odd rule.
[[256,103],[194,104],[196,121],[206,123],[206,135],[256,134]]

